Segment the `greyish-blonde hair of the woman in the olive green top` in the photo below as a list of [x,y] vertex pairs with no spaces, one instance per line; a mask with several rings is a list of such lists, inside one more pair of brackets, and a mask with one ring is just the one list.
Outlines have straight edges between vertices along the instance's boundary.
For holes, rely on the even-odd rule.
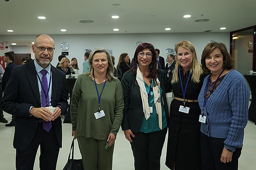
[[95,54],[97,54],[97,53],[106,53],[107,54],[107,59],[108,59],[107,80],[111,82],[112,79],[117,79],[116,77],[114,77],[114,65],[113,65],[113,62],[112,62],[112,59],[111,59],[111,55],[110,55],[109,51],[106,48],[95,48],[90,53],[90,56],[89,56],[89,59],[88,59],[90,69],[87,72],[87,74],[90,77],[93,77],[93,74],[94,74],[94,70],[93,70],[93,56]]

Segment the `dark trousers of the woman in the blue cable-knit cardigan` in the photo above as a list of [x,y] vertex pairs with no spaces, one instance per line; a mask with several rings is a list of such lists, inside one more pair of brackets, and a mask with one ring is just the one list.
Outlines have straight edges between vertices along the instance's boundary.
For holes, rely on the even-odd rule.
[[236,148],[232,161],[224,164],[221,162],[224,141],[225,139],[209,137],[201,133],[202,170],[238,170],[238,159],[242,148]]

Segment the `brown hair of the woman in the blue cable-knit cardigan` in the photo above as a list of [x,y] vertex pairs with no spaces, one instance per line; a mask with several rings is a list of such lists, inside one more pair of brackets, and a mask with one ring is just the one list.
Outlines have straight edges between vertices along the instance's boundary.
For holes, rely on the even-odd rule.
[[206,57],[209,57],[215,48],[218,48],[223,55],[223,69],[231,70],[234,68],[234,59],[227,51],[227,46],[221,42],[211,42],[204,47],[204,51],[202,52],[201,56],[201,65],[205,74],[211,73],[211,71],[206,66],[205,59]]

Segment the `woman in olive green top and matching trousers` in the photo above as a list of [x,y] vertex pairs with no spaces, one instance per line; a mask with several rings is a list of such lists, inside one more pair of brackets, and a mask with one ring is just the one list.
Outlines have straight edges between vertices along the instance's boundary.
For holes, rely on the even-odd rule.
[[89,65],[89,72],[81,74],[73,88],[72,136],[78,139],[84,167],[112,170],[112,145],[124,108],[122,86],[113,77],[114,67],[107,49],[94,49]]

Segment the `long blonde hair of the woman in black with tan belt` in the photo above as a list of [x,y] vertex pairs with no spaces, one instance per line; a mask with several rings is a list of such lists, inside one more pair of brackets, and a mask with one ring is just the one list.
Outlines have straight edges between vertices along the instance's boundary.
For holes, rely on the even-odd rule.
[[[195,52],[195,47],[194,45],[189,42],[189,41],[186,41],[186,40],[183,40],[183,41],[180,41],[178,42],[177,44],[175,44],[175,51],[176,51],[176,54],[177,54],[177,51],[178,51],[178,48],[179,47],[182,47],[182,48],[186,48],[188,49],[191,53],[194,53]],[[175,56],[176,59],[177,59],[177,55]],[[179,68],[180,68],[180,64],[179,62],[176,63],[175,65],[175,69],[174,69],[174,72],[173,72],[173,76],[172,76],[172,84],[173,83],[177,83],[179,81],[179,76],[178,76],[178,73],[179,73]],[[197,58],[197,55],[196,55],[196,52],[195,52],[195,56],[192,58],[192,63],[191,63],[191,66],[190,66],[190,73],[192,75],[191,77],[191,80],[195,83],[198,83],[200,82],[200,75],[202,73],[202,68],[201,68],[201,64],[200,62],[198,61],[198,58]]]

